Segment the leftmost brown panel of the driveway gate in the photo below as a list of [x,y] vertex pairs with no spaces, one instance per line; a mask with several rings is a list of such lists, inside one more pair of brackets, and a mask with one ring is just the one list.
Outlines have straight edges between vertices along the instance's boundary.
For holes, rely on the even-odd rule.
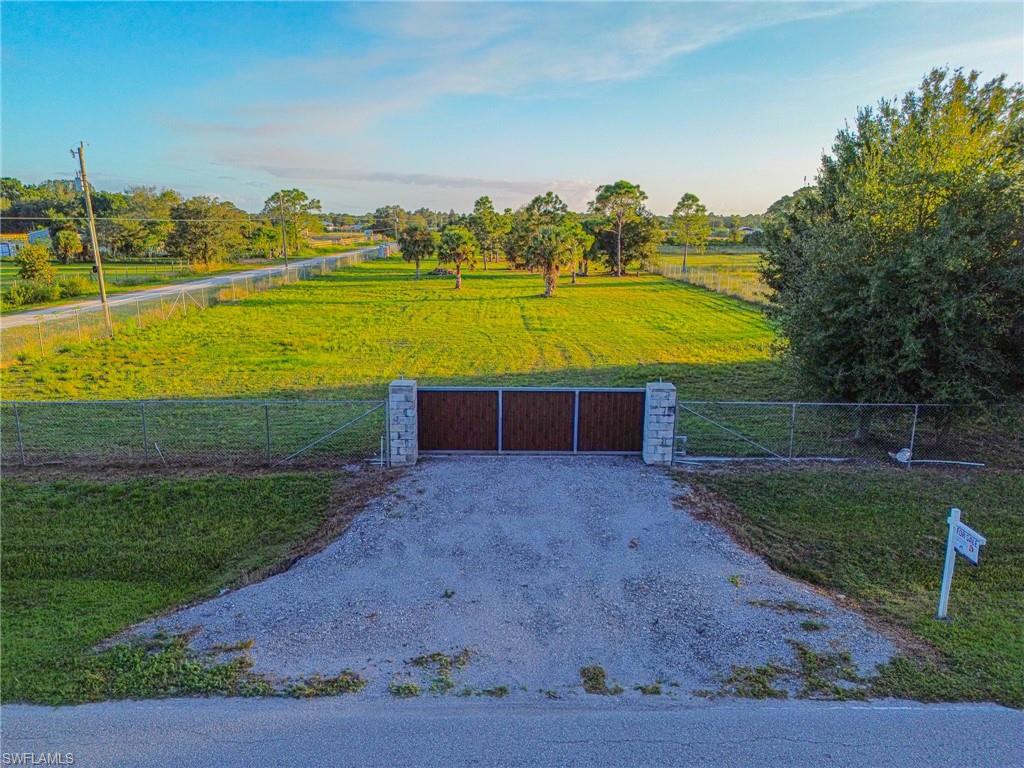
[[498,392],[421,389],[416,406],[420,451],[498,451]]

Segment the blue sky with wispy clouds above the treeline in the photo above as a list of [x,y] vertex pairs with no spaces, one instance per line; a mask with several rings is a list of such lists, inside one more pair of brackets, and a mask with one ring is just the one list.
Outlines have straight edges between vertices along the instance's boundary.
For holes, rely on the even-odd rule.
[[3,175],[173,186],[255,210],[763,211],[858,105],[932,67],[1024,79],[1020,3],[2,4]]

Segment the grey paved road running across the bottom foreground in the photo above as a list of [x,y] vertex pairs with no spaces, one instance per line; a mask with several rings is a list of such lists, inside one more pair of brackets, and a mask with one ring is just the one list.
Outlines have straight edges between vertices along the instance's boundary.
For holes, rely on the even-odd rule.
[[1024,714],[990,705],[211,698],[0,714],[5,754],[72,753],[76,767],[1024,765]]

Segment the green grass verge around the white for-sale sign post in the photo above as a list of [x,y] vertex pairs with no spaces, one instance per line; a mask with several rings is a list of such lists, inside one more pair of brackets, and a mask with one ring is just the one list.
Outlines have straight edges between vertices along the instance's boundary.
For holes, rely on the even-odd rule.
[[[1024,473],[829,468],[685,479],[727,500],[714,516],[773,567],[924,641],[883,671],[876,695],[1024,707]],[[938,622],[951,506],[988,545],[980,566],[957,562],[952,621]]]

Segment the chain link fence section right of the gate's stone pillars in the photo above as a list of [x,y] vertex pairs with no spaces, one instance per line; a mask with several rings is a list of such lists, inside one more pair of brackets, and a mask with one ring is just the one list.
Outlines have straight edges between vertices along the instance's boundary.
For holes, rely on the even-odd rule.
[[680,401],[676,460],[719,459],[1024,468],[1024,406]]

